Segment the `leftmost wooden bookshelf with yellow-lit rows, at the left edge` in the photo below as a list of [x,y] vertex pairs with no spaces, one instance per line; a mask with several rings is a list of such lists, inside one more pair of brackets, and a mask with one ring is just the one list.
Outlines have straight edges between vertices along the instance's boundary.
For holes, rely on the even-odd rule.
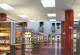
[[10,53],[10,22],[0,22],[0,55]]

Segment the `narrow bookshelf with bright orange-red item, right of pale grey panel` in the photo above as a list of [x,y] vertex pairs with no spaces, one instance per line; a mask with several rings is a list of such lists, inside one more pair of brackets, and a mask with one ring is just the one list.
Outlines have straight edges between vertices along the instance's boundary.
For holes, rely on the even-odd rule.
[[[16,44],[22,43],[22,26],[16,23]],[[21,45],[16,46],[17,50],[21,50]]]

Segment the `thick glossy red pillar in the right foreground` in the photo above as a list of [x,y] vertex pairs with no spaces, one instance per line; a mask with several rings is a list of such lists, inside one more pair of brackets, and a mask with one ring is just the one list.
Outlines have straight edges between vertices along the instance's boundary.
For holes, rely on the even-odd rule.
[[73,10],[65,11],[65,53],[71,54],[71,29],[74,25],[74,12]]

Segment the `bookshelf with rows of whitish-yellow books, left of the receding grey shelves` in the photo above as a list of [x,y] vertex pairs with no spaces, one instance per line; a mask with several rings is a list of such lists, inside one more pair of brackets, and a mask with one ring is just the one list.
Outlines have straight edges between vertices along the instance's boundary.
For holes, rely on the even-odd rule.
[[32,30],[25,31],[25,51],[28,52],[34,51]]

